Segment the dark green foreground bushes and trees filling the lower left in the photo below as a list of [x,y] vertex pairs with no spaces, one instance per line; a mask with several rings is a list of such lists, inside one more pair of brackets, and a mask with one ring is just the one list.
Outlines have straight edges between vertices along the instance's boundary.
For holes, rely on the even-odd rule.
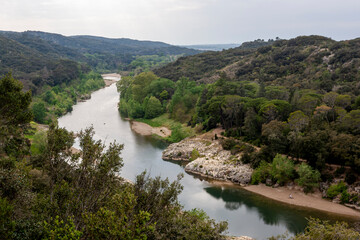
[[[226,222],[179,204],[181,175],[170,182],[144,172],[126,183],[123,145],[106,147],[87,128],[73,153],[72,132],[55,124],[46,134],[27,130],[31,95],[19,82],[4,77],[0,92],[3,239],[222,239]],[[24,132],[33,136],[31,155]]]

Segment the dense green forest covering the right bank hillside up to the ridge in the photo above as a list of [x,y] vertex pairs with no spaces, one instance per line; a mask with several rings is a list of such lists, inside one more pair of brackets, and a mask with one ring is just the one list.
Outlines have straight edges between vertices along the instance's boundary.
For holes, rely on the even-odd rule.
[[[360,40],[266,43],[182,57],[156,69],[158,76],[124,78],[119,111],[145,119],[166,113],[197,131],[221,126],[222,137],[231,137],[223,147],[242,152],[241,161],[256,169],[253,183],[305,181],[311,191],[339,177],[358,182]],[[329,164],[342,167],[334,172]],[[278,173],[271,171],[276,166]],[[328,197],[342,193],[341,202],[358,203],[359,194],[344,183],[334,189]]]

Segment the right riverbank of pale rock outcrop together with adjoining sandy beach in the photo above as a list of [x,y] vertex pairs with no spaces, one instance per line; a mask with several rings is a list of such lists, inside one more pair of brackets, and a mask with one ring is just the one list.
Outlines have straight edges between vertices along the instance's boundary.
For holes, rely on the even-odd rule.
[[[185,161],[185,171],[188,173],[219,180],[224,184],[241,185],[245,190],[272,200],[360,219],[360,211],[323,199],[319,191],[305,194],[295,186],[272,188],[264,184],[248,185],[253,169],[248,164],[241,163],[241,153],[233,155],[224,150],[221,140],[215,140],[215,133],[220,136],[220,130],[216,129],[171,144],[163,151],[162,158]],[[292,199],[289,198],[290,194]]]

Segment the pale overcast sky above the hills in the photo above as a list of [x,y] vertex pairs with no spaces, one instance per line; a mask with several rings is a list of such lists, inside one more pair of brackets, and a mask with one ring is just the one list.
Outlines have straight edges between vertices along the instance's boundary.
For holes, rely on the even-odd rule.
[[0,30],[241,43],[323,35],[360,37],[360,0],[0,0]]

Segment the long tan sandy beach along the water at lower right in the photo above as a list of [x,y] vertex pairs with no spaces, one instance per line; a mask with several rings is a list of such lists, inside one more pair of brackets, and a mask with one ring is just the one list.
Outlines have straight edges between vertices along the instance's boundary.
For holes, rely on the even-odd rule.
[[[305,194],[300,190],[290,190],[286,187],[272,188],[264,184],[250,185],[244,189],[283,203],[360,219],[360,211],[322,199],[320,193]],[[289,198],[290,194],[293,199]]]

